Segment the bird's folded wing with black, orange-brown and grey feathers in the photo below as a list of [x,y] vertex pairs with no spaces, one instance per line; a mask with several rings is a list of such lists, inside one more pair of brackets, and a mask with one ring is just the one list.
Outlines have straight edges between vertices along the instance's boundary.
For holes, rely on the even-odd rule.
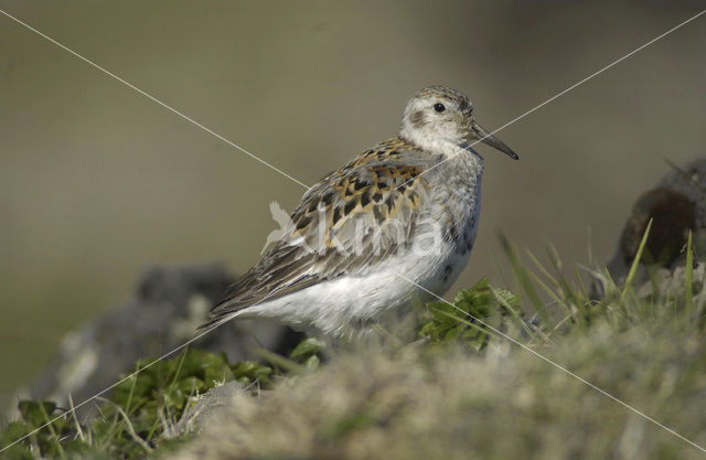
[[363,274],[411,240],[429,183],[399,147],[381,146],[304,193],[282,239],[235,282],[202,328],[254,303]]

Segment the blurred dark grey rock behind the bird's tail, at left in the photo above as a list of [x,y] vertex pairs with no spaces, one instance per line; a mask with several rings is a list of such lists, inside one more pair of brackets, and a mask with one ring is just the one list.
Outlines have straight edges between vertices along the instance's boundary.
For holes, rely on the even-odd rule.
[[[191,341],[233,280],[217,264],[148,269],[130,301],[67,334],[46,370],[12,400],[42,398],[68,407],[69,394],[78,405],[104,392],[132,371],[138,360],[163,356]],[[256,347],[287,353],[300,338],[275,323],[232,321],[189,346],[223,351],[235,362],[256,357],[248,351]],[[87,414],[88,407],[95,406],[86,405],[82,413]],[[8,418],[15,417],[17,409],[11,407]]]

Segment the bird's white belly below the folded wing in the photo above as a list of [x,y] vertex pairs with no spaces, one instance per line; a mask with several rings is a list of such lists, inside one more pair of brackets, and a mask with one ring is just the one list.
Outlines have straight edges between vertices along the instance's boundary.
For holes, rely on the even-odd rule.
[[434,295],[443,295],[468,264],[475,238],[472,221],[460,226],[456,238],[427,227],[409,247],[400,247],[375,267],[249,307],[238,315],[343,335],[415,302],[436,300]]

